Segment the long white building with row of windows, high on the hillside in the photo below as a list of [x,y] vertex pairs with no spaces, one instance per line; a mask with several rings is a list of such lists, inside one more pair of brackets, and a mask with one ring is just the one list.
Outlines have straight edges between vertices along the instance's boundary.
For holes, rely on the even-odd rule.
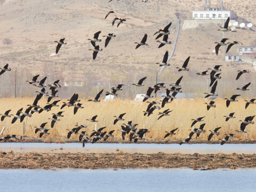
[[193,11],[193,19],[227,19],[232,17],[231,11],[219,10],[218,8],[208,8],[206,11]]

